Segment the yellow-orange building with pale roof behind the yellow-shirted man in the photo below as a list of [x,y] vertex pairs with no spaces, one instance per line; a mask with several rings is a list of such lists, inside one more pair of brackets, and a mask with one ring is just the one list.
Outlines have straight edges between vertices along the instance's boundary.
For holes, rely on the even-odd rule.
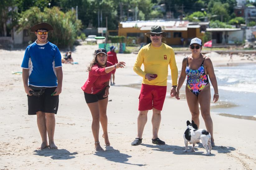
[[187,45],[192,38],[202,39],[204,32],[200,25],[189,25],[189,21],[126,21],[119,24],[118,36],[137,37],[137,43],[149,43],[145,36],[151,26],[159,25],[166,32],[167,38],[162,41],[168,45]]

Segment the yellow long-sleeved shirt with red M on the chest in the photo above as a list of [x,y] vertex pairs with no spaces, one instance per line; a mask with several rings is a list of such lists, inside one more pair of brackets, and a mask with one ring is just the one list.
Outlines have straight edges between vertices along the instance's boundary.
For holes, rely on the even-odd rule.
[[[144,71],[141,65],[144,65]],[[148,85],[167,86],[168,65],[172,75],[172,85],[177,86],[178,68],[173,48],[162,43],[160,47],[148,44],[142,47],[133,66],[135,73],[143,77],[142,83]],[[157,74],[157,78],[148,81],[146,74]]]

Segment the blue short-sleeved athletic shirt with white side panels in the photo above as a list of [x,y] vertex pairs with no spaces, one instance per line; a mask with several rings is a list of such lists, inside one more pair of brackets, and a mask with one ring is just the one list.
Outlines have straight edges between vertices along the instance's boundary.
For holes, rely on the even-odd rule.
[[25,51],[21,68],[29,69],[28,84],[36,87],[57,87],[55,68],[62,67],[58,47],[49,41],[45,45],[36,42]]

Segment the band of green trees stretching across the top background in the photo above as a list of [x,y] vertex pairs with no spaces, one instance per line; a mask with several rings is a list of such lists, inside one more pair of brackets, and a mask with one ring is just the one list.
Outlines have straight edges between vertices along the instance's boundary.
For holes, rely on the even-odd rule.
[[[256,6],[256,2],[246,3]],[[13,27],[28,29],[47,21],[58,29],[51,38],[58,37],[60,46],[70,46],[80,30],[106,27],[106,17],[108,29],[117,29],[120,21],[172,18],[208,20],[211,27],[228,28],[245,22],[235,17],[235,6],[236,0],[1,0],[0,36],[10,36]]]

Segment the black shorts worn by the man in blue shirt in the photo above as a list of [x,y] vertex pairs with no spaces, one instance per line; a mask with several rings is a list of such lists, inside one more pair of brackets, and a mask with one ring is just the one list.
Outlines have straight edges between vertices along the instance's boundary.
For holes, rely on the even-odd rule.
[[59,95],[51,96],[55,89],[56,87],[46,87],[45,92],[41,96],[27,95],[28,114],[35,115],[38,111],[57,114]]

